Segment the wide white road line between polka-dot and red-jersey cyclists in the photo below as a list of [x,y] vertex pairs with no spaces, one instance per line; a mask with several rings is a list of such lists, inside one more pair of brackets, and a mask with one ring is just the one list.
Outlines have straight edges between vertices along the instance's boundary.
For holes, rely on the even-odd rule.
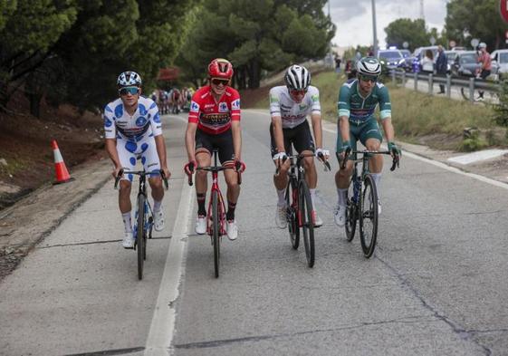
[[170,354],[169,347],[175,331],[176,311],[173,303],[178,297],[181,271],[185,263],[184,251],[187,245],[188,221],[194,201],[192,193],[192,188],[184,182],[164,273],[158,288],[158,298],[150,324],[145,356],[168,356]]

